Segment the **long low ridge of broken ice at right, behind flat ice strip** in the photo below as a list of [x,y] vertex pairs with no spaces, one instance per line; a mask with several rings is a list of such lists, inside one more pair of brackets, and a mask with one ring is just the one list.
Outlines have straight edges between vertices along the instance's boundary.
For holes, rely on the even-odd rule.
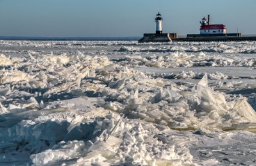
[[255,66],[256,59],[253,57],[234,57],[232,55],[206,55],[200,52],[196,55],[176,51],[168,55],[142,57],[141,55],[129,56],[122,59],[122,64],[127,66],[148,66],[157,68],[179,68],[199,66]]

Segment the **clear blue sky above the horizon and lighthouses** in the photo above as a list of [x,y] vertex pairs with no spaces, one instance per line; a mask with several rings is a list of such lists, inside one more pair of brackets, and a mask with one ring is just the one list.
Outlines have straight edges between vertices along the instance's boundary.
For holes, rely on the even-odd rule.
[[140,37],[199,33],[200,19],[225,24],[227,33],[256,34],[256,0],[0,0],[0,36]]

